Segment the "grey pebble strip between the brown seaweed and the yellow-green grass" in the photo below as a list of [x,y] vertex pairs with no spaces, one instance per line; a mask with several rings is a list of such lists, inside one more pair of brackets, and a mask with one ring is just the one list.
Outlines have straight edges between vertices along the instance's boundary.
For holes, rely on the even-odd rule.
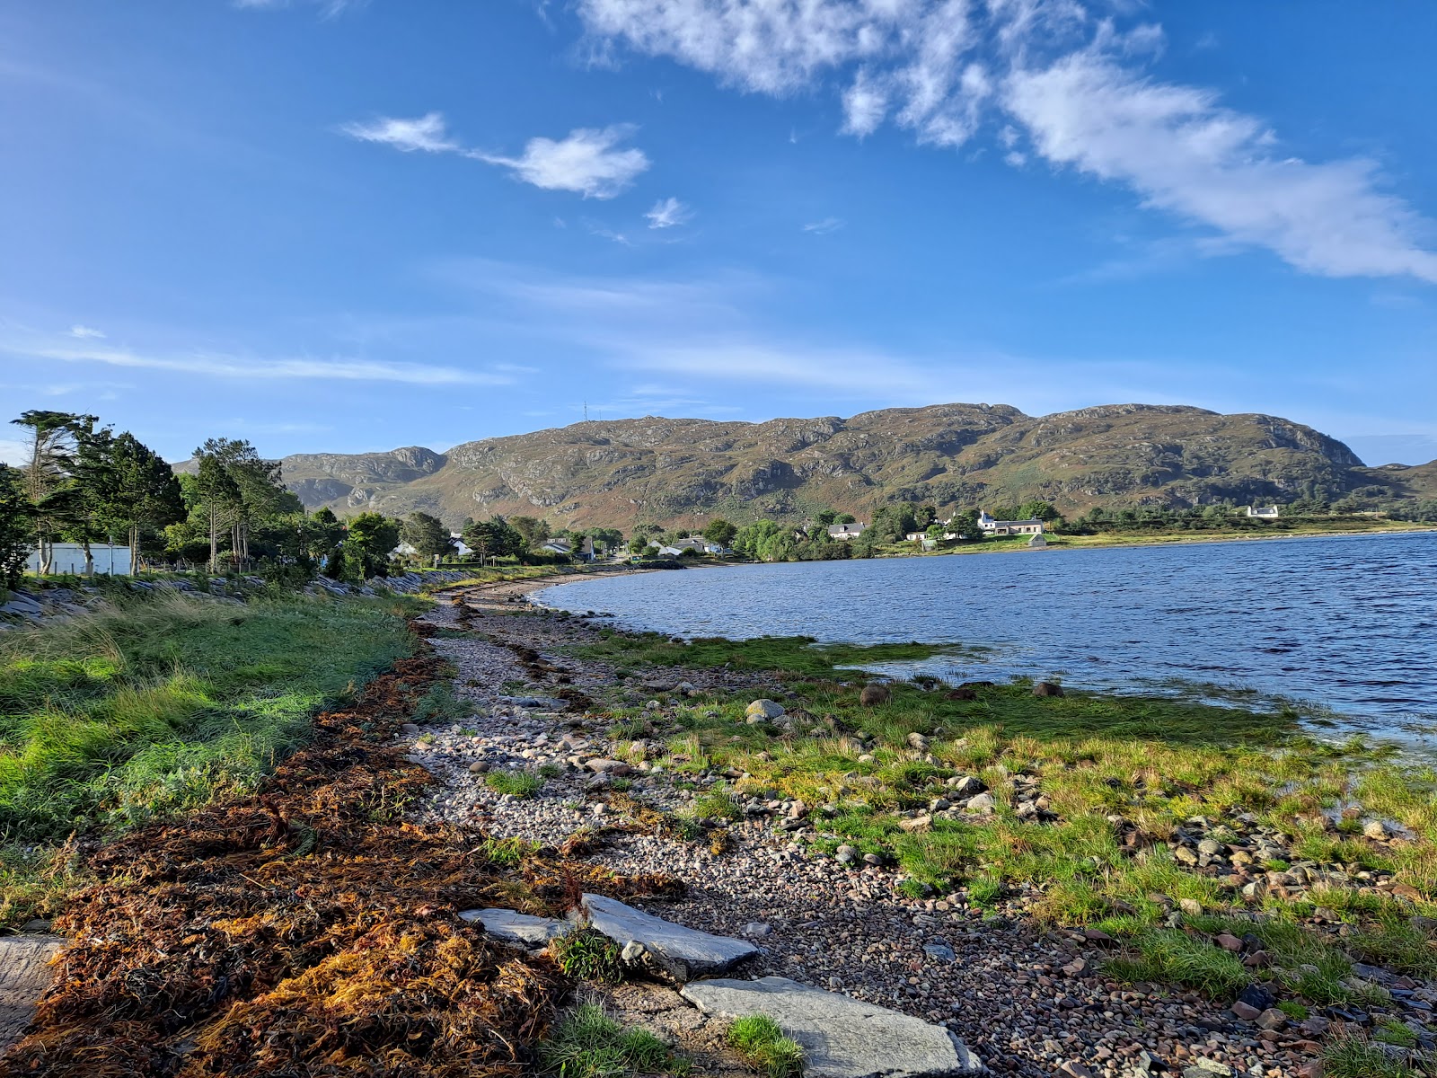
[[[1039,927],[1022,916],[1020,900],[994,916],[971,907],[963,891],[907,897],[887,867],[841,864],[795,841],[803,828],[821,826],[805,819],[806,809],[749,805],[721,852],[655,829],[644,806],[684,809],[723,776],[700,776],[697,791],[684,789],[658,766],[615,757],[621,749],[595,713],[639,687],[621,684],[602,663],[566,654],[596,640],[598,630],[586,618],[529,605],[525,594],[545,584],[441,594],[425,615],[431,642],[456,665],[456,693],[474,716],[408,732],[412,759],[441,779],[421,818],[546,845],[592,829],[593,861],[688,883],[681,903],[642,903],[651,913],[754,939],[763,954],[746,975],[792,977],[944,1023],[997,1074],[1315,1074],[1316,1026],[1265,1029],[1193,993],[1106,980],[1098,970],[1111,940]],[[456,628],[467,634],[444,632]],[[683,683],[696,693],[785,700],[772,678],[740,671],[675,668],[654,677],[641,694],[673,699],[690,691]],[[539,769],[547,778],[533,796],[487,783],[491,772]]]

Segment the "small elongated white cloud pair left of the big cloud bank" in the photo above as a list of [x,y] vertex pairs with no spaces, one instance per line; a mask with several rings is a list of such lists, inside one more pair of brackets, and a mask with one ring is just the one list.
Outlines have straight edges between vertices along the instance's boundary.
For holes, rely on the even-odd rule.
[[456,141],[443,112],[414,119],[378,116],[341,125],[339,131],[362,142],[378,142],[402,152],[460,154],[507,168],[516,180],[549,191],[575,191],[585,198],[612,198],[644,172],[648,157],[637,147],[621,145],[634,137],[632,124],[576,128],[568,138],[532,138],[519,157],[470,149]]

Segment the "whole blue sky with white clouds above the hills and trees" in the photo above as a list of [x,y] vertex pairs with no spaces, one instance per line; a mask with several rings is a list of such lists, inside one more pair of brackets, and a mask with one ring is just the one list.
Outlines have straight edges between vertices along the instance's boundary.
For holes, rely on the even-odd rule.
[[171,457],[1142,401],[1420,463],[1433,55],[1417,0],[6,4],[0,397]]

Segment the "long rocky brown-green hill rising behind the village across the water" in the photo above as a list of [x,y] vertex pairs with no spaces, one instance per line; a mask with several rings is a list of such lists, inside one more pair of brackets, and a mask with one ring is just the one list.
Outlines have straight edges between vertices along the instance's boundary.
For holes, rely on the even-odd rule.
[[297,454],[283,469],[310,509],[422,509],[456,526],[493,513],[619,528],[825,507],[864,519],[900,499],[940,507],[1045,499],[1072,513],[1305,493],[1437,497],[1437,461],[1369,469],[1341,441],[1275,415],[1148,404],[1039,417],[934,404],[848,420],[595,420],[448,453]]

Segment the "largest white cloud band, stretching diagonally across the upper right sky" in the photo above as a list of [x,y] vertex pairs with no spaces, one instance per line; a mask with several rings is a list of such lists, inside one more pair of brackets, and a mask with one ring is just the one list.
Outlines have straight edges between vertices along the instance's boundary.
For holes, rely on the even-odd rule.
[[[747,92],[836,82],[844,131],[892,122],[958,147],[984,124],[1035,158],[1305,273],[1437,283],[1437,226],[1374,161],[1296,158],[1216,91],[1154,79],[1161,27],[1119,30],[1079,0],[578,0],[591,42],[667,56]],[[1128,11],[1122,11],[1124,16]],[[1020,147],[1020,138],[1026,145]],[[1030,147],[1030,148],[1027,148]]]

